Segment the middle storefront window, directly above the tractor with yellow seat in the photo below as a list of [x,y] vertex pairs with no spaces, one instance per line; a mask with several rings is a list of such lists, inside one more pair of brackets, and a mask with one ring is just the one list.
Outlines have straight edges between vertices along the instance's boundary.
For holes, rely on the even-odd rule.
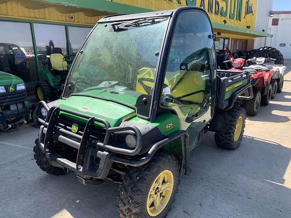
[[33,24],[39,59],[51,53],[67,55],[66,29],[62,25]]

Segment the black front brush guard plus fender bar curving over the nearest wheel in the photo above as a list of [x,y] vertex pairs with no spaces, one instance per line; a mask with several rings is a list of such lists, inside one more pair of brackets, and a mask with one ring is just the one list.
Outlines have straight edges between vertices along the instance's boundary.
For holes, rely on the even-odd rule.
[[[73,133],[62,128],[62,125],[60,125],[62,120],[60,112],[86,118],[88,121],[82,130],[82,134],[78,134],[79,132]],[[93,130],[94,122],[102,123],[105,126],[106,134],[103,141],[94,142],[91,138],[91,134],[95,133],[95,130]],[[45,153],[50,164],[66,171],[74,172],[83,184],[86,184],[85,181],[91,181],[92,179],[106,179],[114,162],[125,166],[142,166],[150,161],[158,149],[182,136],[184,138],[185,169],[186,174],[189,174],[189,147],[186,131],[180,131],[153,144],[147,153],[140,155],[139,151],[142,146],[141,134],[139,129],[134,126],[110,127],[105,120],[57,106],[50,108],[46,120],[41,123],[39,147]],[[110,145],[109,138],[115,132],[133,132],[136,136],[136,147],[129,149]],[[74,149],[77,155],[74,158],[66,157],[66,153],[59,152],[61,146],[64,146],[65,149],[69,146],[69,149]]]

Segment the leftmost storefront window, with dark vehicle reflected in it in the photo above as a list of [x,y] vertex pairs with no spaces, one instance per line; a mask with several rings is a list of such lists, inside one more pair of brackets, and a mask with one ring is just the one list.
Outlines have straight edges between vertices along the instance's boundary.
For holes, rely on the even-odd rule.
[[0,71],[37,81],[30,24],[0,21],[0,26]]

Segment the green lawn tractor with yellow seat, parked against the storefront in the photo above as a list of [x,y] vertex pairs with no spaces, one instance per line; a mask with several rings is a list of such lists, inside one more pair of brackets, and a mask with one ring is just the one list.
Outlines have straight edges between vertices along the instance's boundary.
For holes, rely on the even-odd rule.
[[[53,44],[53,42],[50,42],[50,44]],[[50,53],[49,58],[43,56],[45,61],[42,61],[42,66],[39,69],[39,82],[35,84],[35,96],[38,101],[48,102],[60,97],[62,85],[65,84],[68,69],[72,62],[69,57],[75,56],[64,57],[61,48],[53,47],[51,50],[57,53]]]

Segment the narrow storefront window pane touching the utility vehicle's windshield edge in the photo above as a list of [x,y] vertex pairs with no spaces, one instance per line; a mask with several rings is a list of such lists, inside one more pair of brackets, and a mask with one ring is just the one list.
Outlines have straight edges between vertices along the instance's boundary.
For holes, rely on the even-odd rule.
[[70,55],[78,52],[86,36],[89,34],[91,28],[86,27],[68,27],[69,29],[69,49]]

